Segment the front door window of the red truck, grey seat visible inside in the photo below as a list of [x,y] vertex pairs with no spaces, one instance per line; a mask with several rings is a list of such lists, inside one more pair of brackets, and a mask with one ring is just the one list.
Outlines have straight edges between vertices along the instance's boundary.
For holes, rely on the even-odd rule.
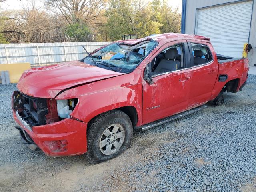
[[152,75],[176,71],[182,68],[185,68],[183,44],[176,44],[164,49],[151,62]]

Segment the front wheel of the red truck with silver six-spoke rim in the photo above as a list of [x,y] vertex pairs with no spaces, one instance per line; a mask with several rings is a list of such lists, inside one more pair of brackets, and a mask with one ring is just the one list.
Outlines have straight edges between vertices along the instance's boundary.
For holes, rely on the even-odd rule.
[[112,110],[100,114],[88,124],[88,161],[97,164],[118,156],[129,148],[132,135],[132,122],[124,112]]

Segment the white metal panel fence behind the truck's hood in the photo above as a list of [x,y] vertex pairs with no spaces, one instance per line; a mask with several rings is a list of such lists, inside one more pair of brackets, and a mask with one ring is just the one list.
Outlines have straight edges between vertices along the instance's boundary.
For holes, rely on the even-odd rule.
[[49,65],[83,58],[111,42],[70,42],[70,43],[21,43],[0,44],[0,64],[24,63],[31,66]]

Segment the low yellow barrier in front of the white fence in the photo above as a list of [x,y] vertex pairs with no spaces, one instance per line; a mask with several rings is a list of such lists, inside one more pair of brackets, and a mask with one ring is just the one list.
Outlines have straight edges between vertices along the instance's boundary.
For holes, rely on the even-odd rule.
[[30,63],[0,64],[0,71],[9,71],[11,83],[17,83],[22,73],[28,69]]

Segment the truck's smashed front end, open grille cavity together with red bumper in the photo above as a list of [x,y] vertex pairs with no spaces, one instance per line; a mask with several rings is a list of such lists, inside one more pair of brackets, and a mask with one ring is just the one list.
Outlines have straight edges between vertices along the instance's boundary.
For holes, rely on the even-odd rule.
[[55,99],[36,98],[15,91],[13,116],[20,126],[22,141],[30,148],[38,146],[49,156],[69,156],[87,151],[87,124],[60,118]]

